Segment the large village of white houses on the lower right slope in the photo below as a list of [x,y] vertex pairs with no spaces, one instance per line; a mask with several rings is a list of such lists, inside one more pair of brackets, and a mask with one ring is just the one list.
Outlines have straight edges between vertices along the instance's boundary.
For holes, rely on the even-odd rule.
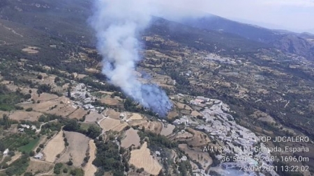
[[[236,162],[222,163],[221,166],[223,168],[270,167],[272,163],[265,161],[265,158],[271,157],[267,150],[253,152],[259,148],[264,148],[264,144],[257,143],[257,136],[251,130],[237,125],[232,115],[227,113],[230,111],[229,106],[217,99],[209,99],[209,102],[213,102],[213,105],[202,111],[203,120],[206,123],[197,125],[195,128],[206,132],[221,145],[223,150],[216,156],[217,159],[223,159],[227,154],[234,154],[237,158],[246,158]],[[255,160],[256,158],[260,160]],[[253,172],[248,173],[253,174]],[[276,175],[276,172],[269,171],[269,173]]]

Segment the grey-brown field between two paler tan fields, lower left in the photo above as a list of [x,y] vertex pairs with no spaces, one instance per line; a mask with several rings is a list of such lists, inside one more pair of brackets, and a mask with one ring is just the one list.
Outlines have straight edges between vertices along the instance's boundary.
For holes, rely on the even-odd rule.
[[58,160],[59,162],[66,163],[70,159],[73,161],[73,166],[80,167],[83,163],[84,157],[88,149],[89,138],[84,134],[77,132],[64,131],[68,139],[68,148]]

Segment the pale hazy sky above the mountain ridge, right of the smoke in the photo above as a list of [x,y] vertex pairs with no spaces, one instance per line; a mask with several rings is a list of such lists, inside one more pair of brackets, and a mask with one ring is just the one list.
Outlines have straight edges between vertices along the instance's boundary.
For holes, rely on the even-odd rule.
[[164,3],[272,29],[314,33],[314,0],[171,0]]

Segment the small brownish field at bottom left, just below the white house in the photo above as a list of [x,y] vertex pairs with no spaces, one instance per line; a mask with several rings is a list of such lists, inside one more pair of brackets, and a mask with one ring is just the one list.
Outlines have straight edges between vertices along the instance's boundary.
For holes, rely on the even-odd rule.
[[27,172],[47,173],[48,171],[52,170],[52,168],[54,168],[53,163],[31,159],[31,161],[29,161],[29,166],[27,167]]

